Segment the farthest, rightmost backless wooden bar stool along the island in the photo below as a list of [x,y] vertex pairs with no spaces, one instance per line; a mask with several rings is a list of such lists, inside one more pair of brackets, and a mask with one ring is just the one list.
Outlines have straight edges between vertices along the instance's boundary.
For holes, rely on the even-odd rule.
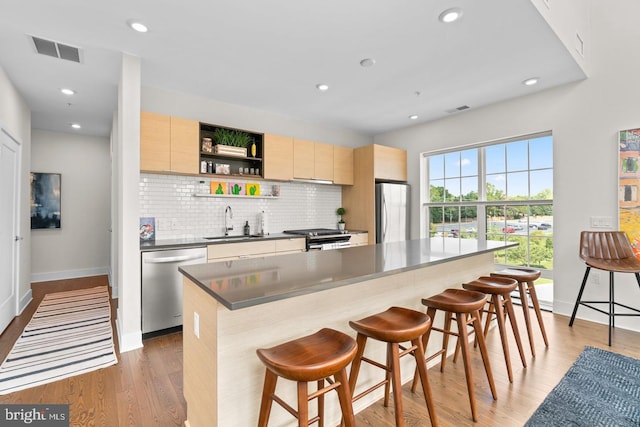
[[506,277],[507,279],[514,279],[518,281],[518,291],[520,292],[520,301],[522,304],[522,312],[524,313],[524,323],[527,326],[527,335],[529,336],[529,346],[531,347],[531,355],[536,357],[536,347],[533,343],[533,330],[531,328],[531,318],[529,316],[529,302],[527,294],[531,297],[531,303],[533,304],[533,310],[536,312],[538,318],[538,325],[542,332],[542,339],[544,345],[549,347],[549,340],[547,339],[547,331],[544,329],[544,321],[542,320],[542,312],[540,311],[540,303],[538,302],[538,295],[536,294],[536,287],[533,284],[540,277],[540,271],[533,268],[524,267],[512,267],[504,270],[500,270],[495,273],[491,273],[491,277]]

